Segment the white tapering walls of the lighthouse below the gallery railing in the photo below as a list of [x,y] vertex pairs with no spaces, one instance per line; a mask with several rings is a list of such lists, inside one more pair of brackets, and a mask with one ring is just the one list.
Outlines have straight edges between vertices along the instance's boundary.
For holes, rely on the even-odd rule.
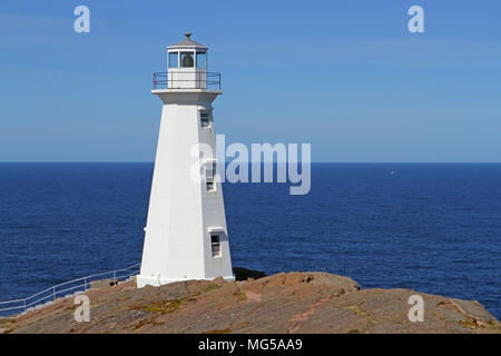
[[[186,279],[234,279],[220,179],[207,191],[194,181],[191,156],[199,142],[216,155],[214,122],[203,128],[199,110],[213,110],[217,90],[154,90],[164,102],[138,287]],[[212,158],[216,158],[213,156]],[[210,230],[222,236],[222,257],[212,256]]]

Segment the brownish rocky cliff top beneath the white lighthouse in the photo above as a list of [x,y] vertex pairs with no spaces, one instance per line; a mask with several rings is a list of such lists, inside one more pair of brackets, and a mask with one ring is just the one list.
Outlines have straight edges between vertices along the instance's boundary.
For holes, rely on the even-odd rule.
[[[412,295],[423,298],[423,322],[409,320]],[[75,322],[78,306],[73,298],[61,298],[0,319],[0,333],[501,333],[478,301],[410,289],[360,289],[351,278],[325,273],[143,289],[128,281],[87,296],[89,323]]]

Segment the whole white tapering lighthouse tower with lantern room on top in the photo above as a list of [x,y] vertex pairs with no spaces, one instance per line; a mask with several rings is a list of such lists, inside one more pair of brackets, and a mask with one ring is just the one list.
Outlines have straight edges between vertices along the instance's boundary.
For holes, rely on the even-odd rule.
[[164,106],[139,288],[234,279],[212,106],[220,75],[207,71],[208,48],[190,36],[167,48],[167,72],[154,75]]

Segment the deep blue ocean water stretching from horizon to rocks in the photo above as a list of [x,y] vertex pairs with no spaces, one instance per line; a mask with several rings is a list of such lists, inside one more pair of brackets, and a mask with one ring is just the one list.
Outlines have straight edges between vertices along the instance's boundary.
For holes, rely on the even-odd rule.
[[[0,300],[140,261],[153,164],[0,164]],[[501,165],[314,164],[225,184],[234,266],[477,299],[501,318]]]

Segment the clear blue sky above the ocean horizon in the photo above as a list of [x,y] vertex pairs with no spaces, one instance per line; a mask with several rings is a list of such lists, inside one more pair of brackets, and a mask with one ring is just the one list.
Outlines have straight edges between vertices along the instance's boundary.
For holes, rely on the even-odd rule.
[[[73,31],[86,4],[91,32]],[[424,8],[425,33],[407,31]],[[183,38],[223,73],[227,142],[314,161],[501,161],[501,2],[0,3],[0,161],[153,161],[151,72]]]

